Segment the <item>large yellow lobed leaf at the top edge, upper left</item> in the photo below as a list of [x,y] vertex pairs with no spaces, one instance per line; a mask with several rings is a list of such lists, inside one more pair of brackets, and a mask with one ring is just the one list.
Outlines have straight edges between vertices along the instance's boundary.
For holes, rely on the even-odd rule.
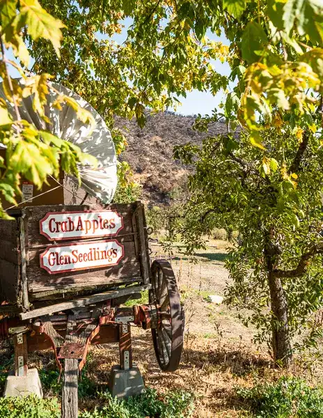
[[63,39],[61,28],[66,26],[58,19],[49,15],[40,6],[38,0],[20,0],[20,13],[17,16],[17,26],[27,25],[27,31],[33,40],[45,38],[52,42],[57,56]]

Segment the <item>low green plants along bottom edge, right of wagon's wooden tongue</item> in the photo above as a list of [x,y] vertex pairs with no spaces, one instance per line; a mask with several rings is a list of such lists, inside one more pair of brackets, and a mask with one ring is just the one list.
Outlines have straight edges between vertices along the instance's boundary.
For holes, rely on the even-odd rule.
[[109,392],[101,394],[107,401],[100,410],[82,412],[80,418],[188,418],[194,410],[194,397],[184,391],[168,393],[161,397],[154,389],[132,398],[118,400]]

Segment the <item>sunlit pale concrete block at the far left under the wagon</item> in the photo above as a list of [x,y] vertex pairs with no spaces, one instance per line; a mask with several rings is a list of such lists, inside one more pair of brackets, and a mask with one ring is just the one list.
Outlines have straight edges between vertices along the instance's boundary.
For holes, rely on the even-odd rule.
[[31,394],[42,398],[42,384],[38,370],[29,369],[27,376],[15,376],[15,372],[10,371],[3,396],[28,396]]

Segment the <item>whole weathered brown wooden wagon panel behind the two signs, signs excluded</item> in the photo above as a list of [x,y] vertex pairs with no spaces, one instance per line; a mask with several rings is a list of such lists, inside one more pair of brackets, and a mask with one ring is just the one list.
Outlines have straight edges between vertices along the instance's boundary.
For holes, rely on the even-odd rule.
[[[87,292],[93,293],[102,286],[127,284],[131,282],[143,282],[141,259],[136,249],[136,240],[133,231],[132,216],[136,210],[134,204],[109,205],[107,210],[115,210],[123,217],[123,229],[116,236],[100,237],[88,240],[70,239],[59,242],[50,242],[40,233],[40,219],[46,217],[49,212],[86,212],[88,206],[40,206],[38,208],[24,209],[26,217],[26,277],[30,300],[54,298],[54,295],[62,293]],[[116,240],[123,247],[123,258],[117,265],[73,270],[50,274],[41,263],[41,255],[52,245],[86,245],[88,243],[95,248],[102,240]],[[66,295],[65,295],[66,296]]]

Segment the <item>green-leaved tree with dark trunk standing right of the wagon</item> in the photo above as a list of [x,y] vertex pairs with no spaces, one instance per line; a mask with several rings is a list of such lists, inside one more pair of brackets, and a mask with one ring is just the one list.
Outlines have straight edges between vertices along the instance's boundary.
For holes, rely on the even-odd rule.
[[256,325],[258,341],[286,365],[293,336],[301,332],[308,344],[318,332],[310,318],[323,301],[323,141],[281,120],[262,141],[265,153],[246,132],[177,148],[175,157],[196,173],[185,217],[174,218],[171,232],[194,253],[214,226],[239,231],[226,302],[251,311],[244,323]]

